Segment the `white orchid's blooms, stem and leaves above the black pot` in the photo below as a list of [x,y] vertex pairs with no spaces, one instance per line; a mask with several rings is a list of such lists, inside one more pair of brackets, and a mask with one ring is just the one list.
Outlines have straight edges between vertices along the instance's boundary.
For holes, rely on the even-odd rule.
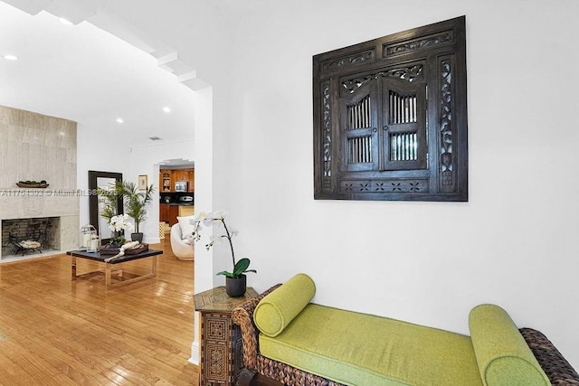
[[217,229],[217,231],[220,231],[221,228],[223,227],[223,231],[222,234],[220,235],[215,235],[215,233],[213,235],[210,236],[209,238],[209,242],[207,244],[205,244],[205,249],[209,250],[211,249],[215,244],[220,244],[223,239],[227,239],[229,241],[229,248],[232,250],[232,259],[233,259],[233,271],[232,272],[228,272],[228,271],[221,271],[219,272],[217,275],[223,275],[226,278],[239,278],[240,276],[242,276],[242,274],[246,273],[246,272],[254,272],[257,273],[257,270],[255,269],[248,269],[250,266],[250,259],[248,258],[242,258],[239,261],[235,261],[235,252],[233,250],[233,236],[235,236],[238,231],[234,231],[233,229],[230,230],[229,228],[227,228],[227,224],[225,223],[225,217],[228,215],[229,213],[227,211],[215,211],[215,212],[200,212],[198,214],[195,215],[195,219],[192,220],[192,223],[194,225],[194,231],[193,231],[193,239],[195,241],[199,241],[201,240],[201,229],[202,227],[213,227],[215,225],[215,228]]

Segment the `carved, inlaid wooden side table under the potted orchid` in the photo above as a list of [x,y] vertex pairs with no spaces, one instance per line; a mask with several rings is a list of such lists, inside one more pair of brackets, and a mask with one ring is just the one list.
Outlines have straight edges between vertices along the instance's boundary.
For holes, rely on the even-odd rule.
[[243,367],[243,348],[242,332],[233,324],[233,308],[257,296],[252,287],[242,297],[228,297],[225,287],[195,294],[195,311],[201,314],[202,386],[234,384]]

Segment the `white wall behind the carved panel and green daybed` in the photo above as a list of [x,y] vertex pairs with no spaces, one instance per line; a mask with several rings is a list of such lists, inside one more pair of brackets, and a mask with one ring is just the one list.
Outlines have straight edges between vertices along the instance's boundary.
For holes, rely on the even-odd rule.
[[[318,303],[465,334],[470,309],[495,303],[579,368],[579,3],[243,4],[231,21],[235,103],[215,110],[235,122],[231,154],[215,157],[227,173],[214,179],[229,186],[236,253],[258,269],[250,285],[305,272]],[[470,201],[314,201],[312,55],[462,14]]]

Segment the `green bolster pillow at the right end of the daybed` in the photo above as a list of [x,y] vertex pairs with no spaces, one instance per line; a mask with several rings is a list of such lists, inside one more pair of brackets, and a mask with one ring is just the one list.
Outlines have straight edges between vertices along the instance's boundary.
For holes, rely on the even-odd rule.
[[476,306],[470,311],[469,328],[483,384],[551,384],[505,310],[494,305]]

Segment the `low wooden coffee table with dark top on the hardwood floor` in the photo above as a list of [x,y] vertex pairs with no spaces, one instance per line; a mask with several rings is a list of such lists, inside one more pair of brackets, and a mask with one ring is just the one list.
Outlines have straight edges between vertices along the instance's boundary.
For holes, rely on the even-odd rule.
[[[145,252],[137,253],[134,255],[124,255],[119,258],[111,259],[110,261],[105,261],[105,259],[110,259],[113,256],[111,255],[101,255],[100,252],[85,252],[80,250],[69,250],[66,252],[67,255],[71,256],[71,278],[72,280],[76,280],[79,278],[89,278],[95,275],[99,275],[104,273],[105,275],[105,287],[106,289],[125,286],[130,283],[134,283],[136,281],[144,280],[146,278],[155,278],[157,276],[157,255],[162,254],[163,251],[159,249],[148,249]],[[98,261],[105,265],[105,269],[103,270],[96,270],[83,273],[81,275],[77,275],[76,272],[76,259],[89,259],[93,261]],[[122,276],[124,273],[122,272],[119,264],[126,263],[127,261],[138,260],[138,259],[151,259],[151,271],[147,272],[145,275],[133,275],[128,274],[129,278],[116,278],[117,281],[113,283],[112,272],[119,272]]]

